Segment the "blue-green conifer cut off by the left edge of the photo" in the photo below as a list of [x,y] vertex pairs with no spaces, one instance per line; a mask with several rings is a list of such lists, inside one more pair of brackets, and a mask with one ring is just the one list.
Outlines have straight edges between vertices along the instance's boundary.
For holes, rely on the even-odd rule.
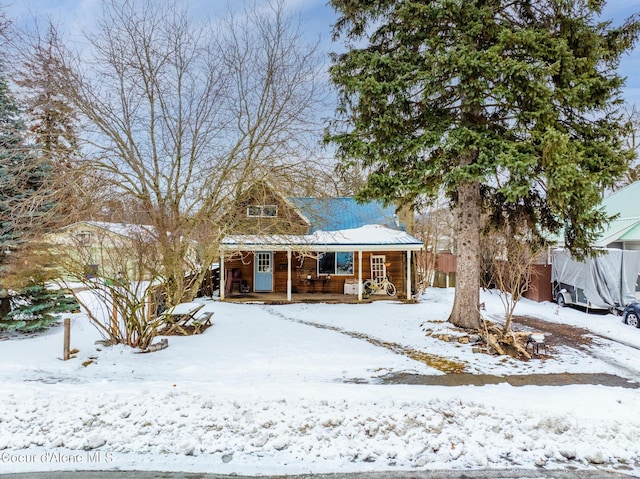
[[[0,328],[34,330],[50,324],[51,313],[65,301],[44,286],[47,268],[38,242],[55,204],[48,189],[52,170],[26,137],[20,108],[0,70]],[[27,258],[36,262],[25,267]]]

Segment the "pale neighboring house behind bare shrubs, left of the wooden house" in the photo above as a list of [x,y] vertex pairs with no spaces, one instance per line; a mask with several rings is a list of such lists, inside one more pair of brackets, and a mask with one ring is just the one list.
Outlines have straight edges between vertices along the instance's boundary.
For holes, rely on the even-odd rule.
[[155,258],[150,226],[79,221],[49,235],[61,248],[68,274],[85,277],[146,279]]

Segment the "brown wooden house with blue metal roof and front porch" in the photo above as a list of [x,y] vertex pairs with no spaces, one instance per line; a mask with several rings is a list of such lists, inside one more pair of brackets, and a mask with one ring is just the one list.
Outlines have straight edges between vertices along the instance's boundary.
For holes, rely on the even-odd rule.
[[389,277],[412,295],[412,254],[420,240],[391,207],[351,198],[285,198],[265,185],[235,210],[221,245],[220,296],[232,293],[355,294],[366,279]]

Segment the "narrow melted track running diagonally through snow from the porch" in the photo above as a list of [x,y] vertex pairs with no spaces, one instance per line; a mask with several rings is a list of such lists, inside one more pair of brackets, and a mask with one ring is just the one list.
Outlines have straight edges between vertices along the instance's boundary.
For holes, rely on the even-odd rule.
[[303,324],[305,326],[310,326],[318,329],[326,329],[329,331],[334,331],[336,333],[344,334],[345,336],[349,336],[350,338],[353,338],[353,339],[366,341],[369,344],[372,344],[377,347],[385,348],[395,354],[406,356],[406,357],[409,357],[410,359],[413,359],[414,361],[424,363],[427,366],[437,369],[438,371],[442,371],[445,374],[463,373],[466,370],[466,365],[464,363],[453,361],[443,356],[426,353],[424,351],[418,351],[417,349],[413,349],[399,343],[394,343],[391,341],[383,341],[381,339],[369,336],[365,333],[360,333],[357,331],[349,331],[346,329],[339,328],[337,326],[316,323],[314,321],[307,321],[304,319],[292,318],[271,306],[263,306],[263,309],[266,310],[269,314],[273,316],[277,316],[278,318],[283,319],[285,321]]

